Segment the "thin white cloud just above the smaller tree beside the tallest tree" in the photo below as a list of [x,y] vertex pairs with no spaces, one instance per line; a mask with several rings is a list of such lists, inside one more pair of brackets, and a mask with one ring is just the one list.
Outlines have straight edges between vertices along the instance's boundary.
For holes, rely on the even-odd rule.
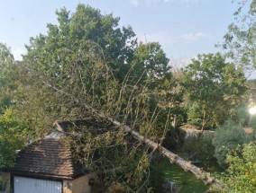
[[138,37],[139,41],[146,42],[159,42],[160,45],[169,45],[174,43],[175,38],[168,32],[156,32],[151,34],[144,34]]

